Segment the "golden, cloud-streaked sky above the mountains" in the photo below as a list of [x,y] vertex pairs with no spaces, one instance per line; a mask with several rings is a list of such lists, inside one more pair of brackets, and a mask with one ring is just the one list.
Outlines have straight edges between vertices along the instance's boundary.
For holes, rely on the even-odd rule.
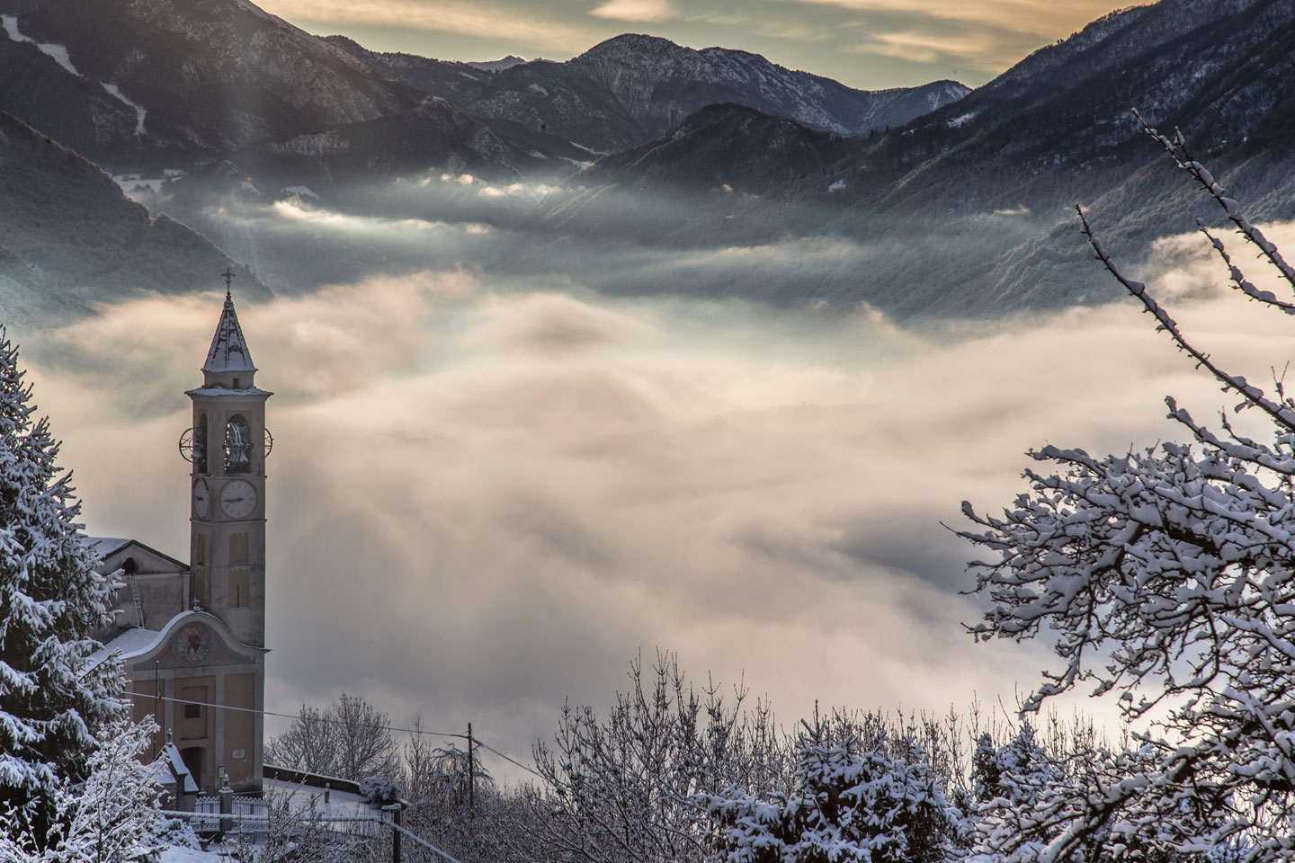
[[738,48],[860,89],[979,87],[1111,0],[264,0],[319,35],[438,60],[570,60],[623,32]]

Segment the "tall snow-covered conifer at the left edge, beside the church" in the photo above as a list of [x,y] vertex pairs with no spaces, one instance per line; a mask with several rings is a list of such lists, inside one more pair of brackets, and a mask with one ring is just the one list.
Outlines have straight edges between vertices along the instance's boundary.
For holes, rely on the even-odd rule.
[[123,705],[120,666],[88,661],[111,586],[23,377],[0,327],[0,818],[44,841],[54,792],[88,776],[97,734]]

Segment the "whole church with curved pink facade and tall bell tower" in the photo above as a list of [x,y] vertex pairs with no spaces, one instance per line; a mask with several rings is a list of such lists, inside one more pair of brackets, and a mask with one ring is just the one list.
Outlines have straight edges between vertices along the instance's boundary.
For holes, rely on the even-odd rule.
[[265,400],[238,326],[229,278],[193,426],[180,437],[190,466],[189,563],[135,540],[91,538],[98,569],[120,572],[113,625],[97,633],[120,651],[133,718],[154,717],[153,758],[175,747],[203,792],[225,778],[262,791],[265,701]]

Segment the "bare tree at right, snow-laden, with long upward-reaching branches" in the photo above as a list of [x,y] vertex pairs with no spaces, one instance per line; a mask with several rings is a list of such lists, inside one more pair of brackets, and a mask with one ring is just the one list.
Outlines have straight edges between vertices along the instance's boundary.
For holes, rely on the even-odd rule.
[[[1295,289],[1295,269],[1235,201],[1193,160],[1181,137],[1147,129],[1222,207],[1239,245]],[[1295,401],[1228,371],[1188,340],[1146,287],[1098,259],[1173,344],[1270,424],[1256,440],[1226,415],[1220,430],[1167,400],[1194,445],[1092,457],[1046,446],[1031,490],[1001,516],[963,511],[963,536],[993,600],[982,639],[1055,634],[1061,668],[1027,709],[1076,684],[1118,704],[1145,731],[1134,747],[1074,771],[1031,818],[992,837],[991,858],[1072,859],[1102,837],[1112,857],[1239,849],[1242,859],[1295,859]],[[1235,248],[1202,225],[1232,286],[1285,314],[1295,303],[1257,289]]]

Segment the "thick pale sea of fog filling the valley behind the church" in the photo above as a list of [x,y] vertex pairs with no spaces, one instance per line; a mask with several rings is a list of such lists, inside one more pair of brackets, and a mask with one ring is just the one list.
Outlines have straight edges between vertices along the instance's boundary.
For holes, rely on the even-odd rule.
[[[605,708],[658,650],[768,696],[787,727],[816,700],[1011,710],[1049,655],[966,634],[983,604],[961,593],[976,555],[949,529],[961,502],[1009,506],[1033,446],[1181,439],[1166,395],[1200,418],[1232,405],[1132,300],[916,327],[866,304],[689,299],[686,283],[613,296],[579,277],[588,260],[527,283],[483,265],[505,233],[484,221],[302,199],[208,217],[275,238],[264,255],[357,250],[363,270],[293,283],[267,260],[277,298],[238,305],[276,393],[268,709],[363,695],[398,725],[471,722],[523,759],[565,701]],[[812,269],[843,243],[698,250],[693,265]],[[642,265],[598,261],[606,278]],[[1145,269],[1216,360],[1281,374],[1289,322],[1229,296],[1198,238],[1163,241]],[[185,555],[183,391],[221,299],[141,295],[10,327],[88,533]]]

